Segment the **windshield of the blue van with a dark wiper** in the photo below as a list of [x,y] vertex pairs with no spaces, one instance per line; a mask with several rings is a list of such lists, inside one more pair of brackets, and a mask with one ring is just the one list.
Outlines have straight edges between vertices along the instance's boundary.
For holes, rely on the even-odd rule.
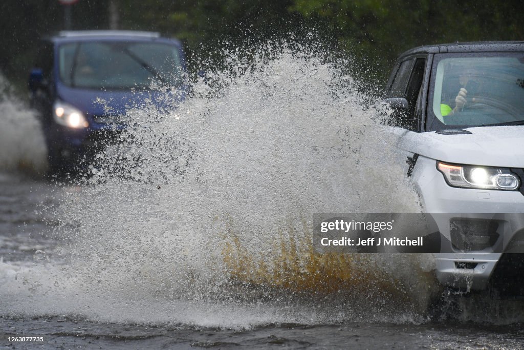
[[69,87],[123,90],[145,89],[154,81],[178,86],[182,67],[176,46],[99,41],[61,45],[59,70]]

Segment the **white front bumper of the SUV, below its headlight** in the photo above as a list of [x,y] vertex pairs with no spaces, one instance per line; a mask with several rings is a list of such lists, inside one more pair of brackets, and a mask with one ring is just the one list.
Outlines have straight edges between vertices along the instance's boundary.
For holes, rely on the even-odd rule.
[[[424,210],[439,213],[439,231],[447,238],[443,244],[449,245],[442,251],[452,251],[435,254],[436,276],[441,283],[453,288],[486,289],[503,251],[524,252],[524,195],[518,191],[451,187],[435,164],[435,160],[419,156],[413,181]],[[497,236],[484,237],[489,241],[485,246],[466,242],[466,247],[469,244],[476,248],[464,249],[464,240],[478,241],[483,237],[457,234],[457,219],[496,222],[496,232],[492,235]]]

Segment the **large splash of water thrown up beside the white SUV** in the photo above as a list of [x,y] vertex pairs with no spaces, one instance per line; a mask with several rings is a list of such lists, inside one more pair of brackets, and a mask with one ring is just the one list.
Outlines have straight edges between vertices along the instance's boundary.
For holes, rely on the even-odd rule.
[[311,249],[313,213],[420,211],[377,104],[309,53],[228,63],[174,112],[128,111],[121,142],[64,187],[54,258],[3,264],[3,310],[224,327],[422,320],[430,256]]

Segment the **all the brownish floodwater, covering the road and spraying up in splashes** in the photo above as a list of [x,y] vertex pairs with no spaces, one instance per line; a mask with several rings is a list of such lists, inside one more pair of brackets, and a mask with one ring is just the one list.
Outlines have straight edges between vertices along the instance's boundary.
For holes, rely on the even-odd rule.
[[37,119],[3,92],[0,346],[522,348],[518,301],[434,316],[431,254],[312,252],[314,213],[421,209],[379,107],[325,59],[271,52],[231,55],[175,112],[130,110],[72,181],[39,175]]

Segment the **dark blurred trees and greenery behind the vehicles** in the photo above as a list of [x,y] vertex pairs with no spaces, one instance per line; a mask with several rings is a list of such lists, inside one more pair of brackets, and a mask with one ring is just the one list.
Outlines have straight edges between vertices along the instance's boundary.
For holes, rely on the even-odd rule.
[[[78,0],[69,10],[73,30],[154,30],[179,38],[193,72],[201,69],[203,57],[220,66],[227,46],[314,37],[309,45],[352,57],[354,71],[379,86],[396,57],[414,46],[524,40],[522,5],[522,0]],[[66,29],[64,12],[59,0],[0,3],[0,71],[16,87],[25,88],[38,55],[36,41]]]

